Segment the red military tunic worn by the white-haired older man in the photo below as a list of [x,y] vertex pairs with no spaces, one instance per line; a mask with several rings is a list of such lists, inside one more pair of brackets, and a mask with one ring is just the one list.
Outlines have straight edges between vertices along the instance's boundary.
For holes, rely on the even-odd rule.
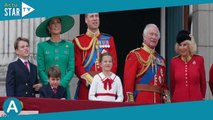
[[[156,60],[158,61],[156,62],[157,71],[155,67],[152,67],[152,65],[148,66],[151,71],[149,71],[148,69],[145,70],[146,66],[148,65],[145,62],[148,62],[150,60],[149,59],[150,55],[151,54],[145,51],[143,48],[133,50],[127,55],[124,68],[124,81],[123,81],[125,101],[127,100],[127,93],[133,93],[135,102],[145,104],[162,102],[161,95],[159,93],[150,91],[137,91],[135,87],[138,84],[143,84],[150,86],[158,86],[163,90],[167,89],[165,84],[166,83],[165,60],[159,54],[154,52],[153,55],[158,59]],[[145,62],[142,62],[142,60]],[[143,74],[139,75],[139,73],[141,73],[142,71],[144,71]],[[156,72],[153,73],[153,71]],[[154,74],[155,76],[151,77],[151,74]],[[150,80],[147,81],[148,79]]]

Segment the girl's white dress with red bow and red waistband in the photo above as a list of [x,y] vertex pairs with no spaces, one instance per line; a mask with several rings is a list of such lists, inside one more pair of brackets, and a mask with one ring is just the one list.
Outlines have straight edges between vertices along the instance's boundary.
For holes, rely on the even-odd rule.
[[107,78],[103,72],[95,75],[89,90],[89,100],[123,102],[120,78],[114,73],[110,78]]

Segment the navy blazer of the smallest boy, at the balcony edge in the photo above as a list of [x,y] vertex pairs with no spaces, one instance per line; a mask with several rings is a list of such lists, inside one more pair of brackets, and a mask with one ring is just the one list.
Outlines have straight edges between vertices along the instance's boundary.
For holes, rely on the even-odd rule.
[[64,87],[58,86],[57,92],[54,93],[49,83],[47,85],[43,85],[42,88],[40,88],[39,94],[41,98],[67,98],[67,92]]

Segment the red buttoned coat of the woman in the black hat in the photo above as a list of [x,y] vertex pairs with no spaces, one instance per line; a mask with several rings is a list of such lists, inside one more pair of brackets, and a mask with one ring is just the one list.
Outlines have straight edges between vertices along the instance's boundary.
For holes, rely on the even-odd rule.
[[193,55],[189,62],[180,56],[171,60],[170,87],[172,102],[202,100],[206,93],[204,59]]

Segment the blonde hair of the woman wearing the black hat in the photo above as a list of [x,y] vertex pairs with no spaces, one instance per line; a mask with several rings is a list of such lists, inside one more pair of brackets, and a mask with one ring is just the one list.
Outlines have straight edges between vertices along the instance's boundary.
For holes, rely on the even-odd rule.
[[[194,40],[194,37],[192,35],[190,35],[190,37],[191,37],[191,40],[185,40],[185,41],[189,44],[190,54],[194,55],[197,52],[197,44]],[[175,44],[175,52],[177,54],[180,54],[179,47],[180,47],[180,45],[178,43],[176,43]]]

